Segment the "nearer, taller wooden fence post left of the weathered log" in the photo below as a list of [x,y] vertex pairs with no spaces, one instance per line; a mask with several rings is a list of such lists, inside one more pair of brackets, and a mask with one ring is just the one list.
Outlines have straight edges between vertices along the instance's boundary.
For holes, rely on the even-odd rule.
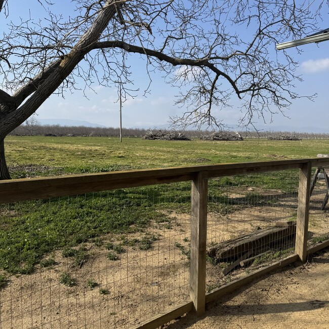
[[208,174],[200,172],[191,190],[190,298],[197,315],[205,311],[205,257],[207,249]]

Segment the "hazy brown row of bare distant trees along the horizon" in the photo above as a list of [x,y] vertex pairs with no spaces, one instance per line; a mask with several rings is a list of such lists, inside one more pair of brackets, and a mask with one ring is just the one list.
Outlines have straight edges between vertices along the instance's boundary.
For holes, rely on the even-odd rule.
[[[32,117],[33,118],[33,117]],[[166,130],[164,130],[166,131]],[[123,137],[143,138],[149,132],[148,129],[122,128]],[[170,130],[168,130],[170,133]],[[188,138],[203,138],[209,136],[215,131],[185,130],[177,132],[184,134]],[[234,132],[231,132],[234,134]],[[265,138],[275,139],[283,135],[294,135],[300,139],[329,139],[329,133],[296,133],[296,132],[266,132],[266,131],[239,131],[238,134],[243,138]],[[119,137],[119,128],[86,127],[86,126],[60,126],[60,125],[40,125],[36,120],[29,119],[23,125],[15,128],[10,135],[12,136],[52,136],[52,137]]]

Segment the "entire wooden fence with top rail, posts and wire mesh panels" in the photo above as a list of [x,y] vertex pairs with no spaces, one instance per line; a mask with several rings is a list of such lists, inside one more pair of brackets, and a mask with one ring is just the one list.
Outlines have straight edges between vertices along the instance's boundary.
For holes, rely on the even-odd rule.
[[155,328],[201,315],[329,245],[327,166],[310,158],[1,181],[0,328]]

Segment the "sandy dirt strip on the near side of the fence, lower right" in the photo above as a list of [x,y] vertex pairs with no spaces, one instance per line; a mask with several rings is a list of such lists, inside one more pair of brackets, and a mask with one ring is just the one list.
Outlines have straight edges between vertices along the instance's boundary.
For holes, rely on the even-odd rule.
[[329,327],[329,248],[211,303],[204,316],[188,314],[167,329]]

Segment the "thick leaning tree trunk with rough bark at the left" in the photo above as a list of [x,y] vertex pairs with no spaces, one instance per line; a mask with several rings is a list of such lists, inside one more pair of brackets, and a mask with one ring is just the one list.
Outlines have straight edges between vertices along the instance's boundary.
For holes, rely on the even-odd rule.
[[[81,36],[71,51],[63,56],[62,59],[57,60],[46,68],[45,72],[48,70],[48,73],[44,80],[42,79],[43,74],[38,74],[35,80],[32,79],[32,83],[20,88],[14,93],[13,97],[0,90],[0,100],[2,101],[2,104],[0,104],[1,136],[7,136],[28,119],[62,84],[84,56],[93,50],[94,43],[99,40],[109,21],[115,16],[116,6],[120,5],[115,0],[107,0],[105,2],[103,9],[99,12],[93,24]],[[41,82],[40,79],[42,79]],[[27,99],[30,95],[32,96]],[[21,105],[25,100],[26,102]],[[4,179],[10,179],[10,174],[6,164],[4,138],[0,137],[0,180]]]

